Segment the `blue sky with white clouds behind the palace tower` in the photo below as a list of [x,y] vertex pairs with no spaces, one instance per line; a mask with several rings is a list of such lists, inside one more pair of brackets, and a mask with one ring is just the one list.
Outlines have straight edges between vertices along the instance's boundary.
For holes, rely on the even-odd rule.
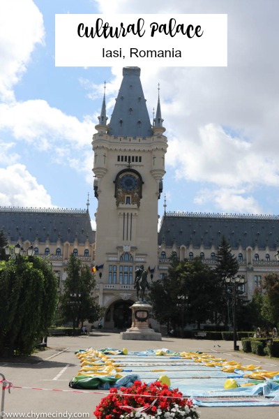
[[55,67],[56,13],[226,13],[227,67],[142,66],[169,145],[158,214],[279,214],[276,0],[1,0],[0,206],[85,209],[89,193],[94,226],[91,140],[122,68]]

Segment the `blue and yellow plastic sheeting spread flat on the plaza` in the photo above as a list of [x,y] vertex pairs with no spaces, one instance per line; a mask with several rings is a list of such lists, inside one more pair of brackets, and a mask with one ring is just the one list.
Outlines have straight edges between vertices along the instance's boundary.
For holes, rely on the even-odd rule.
[[[130,387],[135,380],[151,383],[164,374],[172,388],[179,388],[198,406],[279,406],[279,372],[255,365],[216,358],[197,352],[130,351],[88,348],[76,352],[80,372],[70,381],[73,388]],[[237,388],[224,388],[228,378]]]

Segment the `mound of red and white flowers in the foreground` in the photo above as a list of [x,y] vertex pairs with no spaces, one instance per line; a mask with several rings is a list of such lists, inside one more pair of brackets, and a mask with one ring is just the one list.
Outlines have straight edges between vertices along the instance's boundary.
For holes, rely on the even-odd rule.
[[135,381],[130,388],[110,389],[96,407],[97,419],[198,419],[199,413],[190,399],[179,389],[169,389],[166,384],[155,381],[150,385]]

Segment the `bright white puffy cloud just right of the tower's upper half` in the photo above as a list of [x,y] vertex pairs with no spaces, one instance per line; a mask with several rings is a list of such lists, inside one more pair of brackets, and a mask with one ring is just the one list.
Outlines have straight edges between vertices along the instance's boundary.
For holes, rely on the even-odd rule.
[[276,159],[257,154],[251,142],[232,138],[213,124],[200,128],[187,142],[171,140],[167,159],[177,179],[219,186],[279,186]]

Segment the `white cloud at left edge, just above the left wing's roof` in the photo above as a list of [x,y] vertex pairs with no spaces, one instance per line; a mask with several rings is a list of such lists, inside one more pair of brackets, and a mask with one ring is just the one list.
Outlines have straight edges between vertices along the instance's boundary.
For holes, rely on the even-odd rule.
[[0,205],[4,207],[53,207],[50,195],[20,163],[0,168]]

